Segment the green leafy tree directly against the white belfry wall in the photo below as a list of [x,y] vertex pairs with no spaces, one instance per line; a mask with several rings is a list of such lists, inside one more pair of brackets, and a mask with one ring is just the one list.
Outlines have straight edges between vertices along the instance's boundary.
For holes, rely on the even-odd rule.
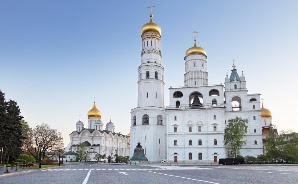
[[229,119],[226,125],[224,142],[229,144],[229,157],[235,157],[240,153],[240,149],[246,144],[243,140],[244,135],[247,133],[248,119],[236,118]]

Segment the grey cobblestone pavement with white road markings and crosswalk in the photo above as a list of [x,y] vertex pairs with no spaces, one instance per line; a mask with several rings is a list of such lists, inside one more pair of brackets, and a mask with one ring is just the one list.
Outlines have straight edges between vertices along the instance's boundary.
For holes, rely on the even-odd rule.
[[0,183],[298,183],[298,166],[163,166],[66,163]]

